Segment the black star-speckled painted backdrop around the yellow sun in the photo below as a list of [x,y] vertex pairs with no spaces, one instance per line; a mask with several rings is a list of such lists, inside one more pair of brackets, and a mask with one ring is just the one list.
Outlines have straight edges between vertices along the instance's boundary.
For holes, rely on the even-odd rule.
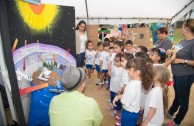
[[23,21],[14,0],[6,0],[6,10],[8,17],[9,32],[11,36],[11,45],[15,38],[18,38],[17,48],[27,44],[40,43],[55,45],[65,50],[70,48],[70,53],[75,57],[75,9],[74,7],[59,6],[60,13],[57,15],[55,25],[52,25],[52,34],[47,30],[44,32],[35,32],[30,29]]

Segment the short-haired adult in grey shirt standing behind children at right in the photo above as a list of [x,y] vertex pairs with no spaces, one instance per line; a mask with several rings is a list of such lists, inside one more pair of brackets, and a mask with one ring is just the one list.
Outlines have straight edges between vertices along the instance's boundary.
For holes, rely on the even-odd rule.
[[168,38],[168,31],[165,27],[161,27],[156,31],[158,36],[158,42],[154,44],[156,48],[163,48],[165,51],[171,49],[173,44],[171,40]]

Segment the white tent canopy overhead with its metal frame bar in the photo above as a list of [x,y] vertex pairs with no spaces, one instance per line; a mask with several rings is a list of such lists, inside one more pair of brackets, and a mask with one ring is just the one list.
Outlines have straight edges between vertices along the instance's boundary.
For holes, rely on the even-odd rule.
[[89,24],[174,23],[194,8],[194,0],[41,0],[74,6],[76,22]]

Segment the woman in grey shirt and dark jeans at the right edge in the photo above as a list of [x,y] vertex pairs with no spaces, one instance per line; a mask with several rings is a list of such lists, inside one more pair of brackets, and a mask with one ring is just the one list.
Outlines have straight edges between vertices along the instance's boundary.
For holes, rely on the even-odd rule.
[[173,118],[179,108],[173,119],[173,126],[180,125],[188,111],[190,89],[194,82],[194,19],[183,23],[182,34],[185,39],[179,43],[179,50],[172,64],[175,98],[168,117]]

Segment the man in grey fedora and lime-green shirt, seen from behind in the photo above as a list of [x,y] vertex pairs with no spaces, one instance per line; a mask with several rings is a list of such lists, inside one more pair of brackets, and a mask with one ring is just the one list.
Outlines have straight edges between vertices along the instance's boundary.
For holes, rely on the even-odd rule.
[[86,71],[67,65],[61,82],[66,92],[55,96],[50,103],[51,126],[99,126],[102,121],[97,102],[86,97]]

